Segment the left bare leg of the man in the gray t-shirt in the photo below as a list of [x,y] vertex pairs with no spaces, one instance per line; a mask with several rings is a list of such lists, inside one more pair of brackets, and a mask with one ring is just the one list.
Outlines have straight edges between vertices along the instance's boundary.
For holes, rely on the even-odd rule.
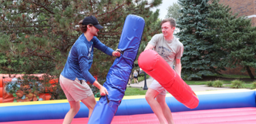
[[163,115],[163,110],[161,109],[160,104],[155,99],[158,94],[159,94],[159,92],[157,92],[154,89],[149,88],[146,92],[146,100],[147,100],[148,104],[150,105],[151,109],[153,110],[153,112],[156,114],[157,119],[159,120],[160,124],[165,124],[166,119]]

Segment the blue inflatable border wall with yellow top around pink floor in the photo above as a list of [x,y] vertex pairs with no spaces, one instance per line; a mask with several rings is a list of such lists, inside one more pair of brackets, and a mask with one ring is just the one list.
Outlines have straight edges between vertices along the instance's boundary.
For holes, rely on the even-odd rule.
[[[203,109],[227,109],[256,107],[254,90],[236,89],[209,92],[196,92],[199,105],[196,109],[188,109],[178,102],[173,96],[166,98],[167,105],[172,112],[203,110]],[[12,122],[22,120],[39,119],[64,119],[69,111],[67,100],[51,100],[41,102],[19,102],[0,104],[0,122]],[[89,110],[81,102],[81,108],[75,118],[88,117]],[[153,113],[145,96],[125,96],[116,111],[116,116]],[[97,113],[101,114],[101,113]]]

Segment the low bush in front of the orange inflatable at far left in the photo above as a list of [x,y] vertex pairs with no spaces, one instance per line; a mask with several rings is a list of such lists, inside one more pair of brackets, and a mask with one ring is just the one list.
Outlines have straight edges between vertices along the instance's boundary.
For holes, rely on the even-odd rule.
[[12,82],[5,82],[5,91],[12,94],[14,102],[41,101],[40,94],[49,93],[50,99],[66,99],[59,81],[49,75],[41,78],[34,75],[23,75]]

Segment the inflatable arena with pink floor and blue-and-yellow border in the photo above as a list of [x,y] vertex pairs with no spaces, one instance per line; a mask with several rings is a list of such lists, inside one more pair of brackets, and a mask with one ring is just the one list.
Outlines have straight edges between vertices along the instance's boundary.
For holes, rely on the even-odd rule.
[[[231,89],[195,93],[200,101],[196,109],[188,109],[173,96],[167,94],[167,105],[172,111],[176,124],[256,123],[255,90]],[[0,124],[61,124],[68,111],[69,103],[66,100],[1,103]],[[81,109],[72,123],[87,123],[88,112],[86,106],[81,103]],[[157,124],[158,120],[147,104],[145,96],[125,96],[111,123]]]

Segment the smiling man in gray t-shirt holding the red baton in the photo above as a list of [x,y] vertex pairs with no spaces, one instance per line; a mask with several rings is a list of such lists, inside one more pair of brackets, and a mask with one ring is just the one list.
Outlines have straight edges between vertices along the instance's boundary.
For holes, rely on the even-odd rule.
[[[183,55],[184,45],[173,36],[176,22],[173,18],[163,19],[161,22],[162,34],[154,35],[150,42],[147,44],[147,49],[155,50],[162,58],[173,68],[175,72],[180,75],[181,63],[180,59]],[[144,50],[144,51],[145,51]],[[156,114],[160,124],[165,123],[165,119],[169,124],[173,124],[173,117],[170,108],[165,102],[167,91],[155,79],[150,85],[146,93],[146,100],[151,109]]]

